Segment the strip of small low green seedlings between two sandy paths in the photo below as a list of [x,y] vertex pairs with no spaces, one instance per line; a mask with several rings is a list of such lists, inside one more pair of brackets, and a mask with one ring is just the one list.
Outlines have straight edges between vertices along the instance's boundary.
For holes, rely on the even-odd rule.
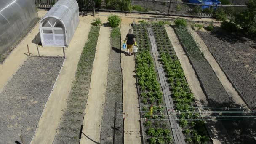
[[56,144],[79,144],[80,128],[83,125],[99,29],[100,27],[91,27],[87,43],[85,43],[80,56],[72,90],[67,99],[67,108],[64,110],[58,133],[56,134],[54,142]]

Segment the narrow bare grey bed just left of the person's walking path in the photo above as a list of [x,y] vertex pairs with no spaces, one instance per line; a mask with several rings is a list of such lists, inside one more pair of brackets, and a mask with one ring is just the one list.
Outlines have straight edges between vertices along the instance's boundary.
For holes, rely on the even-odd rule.
[[[109,54],[109,70],[107,77],[106,100],[101,123],[101,143],[113,143],[115,102],[123,102],[122,70],[121,70],[121,49],[120,49],[120,28],[111,31],[111,50]],[[115,34],[114,34],[115,33]],[[120,104],[119,104],[120,106]],[[118,108],[121,111],[122,108]],[[123,143],[123,120],[116,120],[115,144]]]

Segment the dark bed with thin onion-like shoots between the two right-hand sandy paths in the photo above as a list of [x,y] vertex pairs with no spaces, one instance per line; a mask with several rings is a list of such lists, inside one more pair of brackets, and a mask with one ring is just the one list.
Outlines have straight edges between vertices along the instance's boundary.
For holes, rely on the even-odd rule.
[[[210,64],[204,58],[203,53],[201,53],[187,29],[181,28],[175,29],[175,31],[183,45],[184,51],[186,52],[190,63],[195,69],[197,77],[200,80],[201,87],[203,88],[205,95],[208,97],[210,106],[207,107],[241,107],[235,104],[224,90],[218,77],[213,72]],[[212,39],[211,41],[214,42]],[[241,116],[239,114],[233,115],[235,115],[235,117],[238,119],[242,119],[241,117],[237,117]],[[222,123],[232,141],[239,144],[255,143],[252,136],[252,131],[255,131],[252,127],[255,124],[248,121],[232,120],[235,119],[235,117],[219,118],[226,119],[223,120]]]

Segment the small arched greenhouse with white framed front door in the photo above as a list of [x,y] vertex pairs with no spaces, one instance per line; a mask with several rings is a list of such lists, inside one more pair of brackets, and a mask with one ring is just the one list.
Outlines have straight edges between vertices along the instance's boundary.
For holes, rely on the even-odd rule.
[[76,0],[59,0],[40,21],[42,46],[68,47],[79,24]]

